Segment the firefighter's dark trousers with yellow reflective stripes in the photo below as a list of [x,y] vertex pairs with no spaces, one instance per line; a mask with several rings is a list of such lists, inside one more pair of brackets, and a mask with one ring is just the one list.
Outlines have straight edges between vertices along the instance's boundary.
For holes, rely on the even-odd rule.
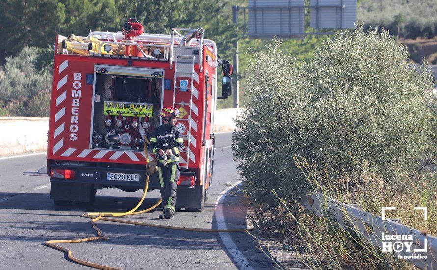
[[170,209],[175,211],[176,206],[176,189],[178,187],[179,166],[178,164],[169,163],[167,167],[158,164],[158,176],[161,187],[161,198],[163,199],[163,211]]

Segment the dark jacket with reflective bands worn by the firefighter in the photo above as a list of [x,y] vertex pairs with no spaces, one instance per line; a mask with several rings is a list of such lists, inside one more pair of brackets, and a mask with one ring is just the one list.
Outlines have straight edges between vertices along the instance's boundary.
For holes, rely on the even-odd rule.
[[153,130],[150,136],[150,148],[158,157],[158,162],[164,163],[164,158],[159,155],[159,149],[164,152],[171,149],[174,156],[167,157],[167,163],[179,163],[179,153],[184,150],[184,139],[175,127],[164,124]]

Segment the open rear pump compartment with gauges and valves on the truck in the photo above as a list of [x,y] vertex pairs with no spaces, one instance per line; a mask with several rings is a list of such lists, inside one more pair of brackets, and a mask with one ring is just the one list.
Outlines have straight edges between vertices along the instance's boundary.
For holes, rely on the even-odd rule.
[[142,130],[150,138],[160,125],[162,72],[135,76],[138,71],[129,71],[137,68],[125,69],[115,73],[109,67],[96,68],[90,149],[143,151]]

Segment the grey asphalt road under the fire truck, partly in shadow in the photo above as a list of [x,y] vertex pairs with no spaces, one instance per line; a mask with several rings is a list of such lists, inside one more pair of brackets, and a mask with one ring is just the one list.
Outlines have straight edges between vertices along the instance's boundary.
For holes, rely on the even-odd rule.
[[[241,228],[247,226],[247,209],[226,182],[236,183],[231,133],[216,136],[213,184],[201,213],[177,212],[175,219],[160,220],[157,210],[124,217],[139,222],[195,228]],[[133,208],[142,191],[119,189],[97,192],[94,206],[54,206],[49,198],[48,177],[23,176],[46,165],[46,155],[0,159],[0,268],[89,269],[69,261],[64,253],[43,245],[46,240],[77,239],[94,235],[86,212],[124,212]],[[159,191],[147,194],[140,209],[153,205]],[[216,205],[217,201],[217,205]],[[271,269],[273,263],[247,233],[201,233],[99,221],[109,241],[64,243],[73,256],[123,269]]]

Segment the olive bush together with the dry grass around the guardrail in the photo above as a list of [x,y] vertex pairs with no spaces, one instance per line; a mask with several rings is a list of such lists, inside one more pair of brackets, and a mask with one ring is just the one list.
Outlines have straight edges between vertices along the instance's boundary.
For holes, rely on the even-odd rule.
[[[253,224],[303,247],[311,268],[411,267],[302,206],[307,192],[437,234],[433,77],[385,30],[337,33],[306,62],[274,40],[254,52],[232,148]],[[427,206],[424,221],[413,206]],[[310,259],[311,258],[311,259]]]

